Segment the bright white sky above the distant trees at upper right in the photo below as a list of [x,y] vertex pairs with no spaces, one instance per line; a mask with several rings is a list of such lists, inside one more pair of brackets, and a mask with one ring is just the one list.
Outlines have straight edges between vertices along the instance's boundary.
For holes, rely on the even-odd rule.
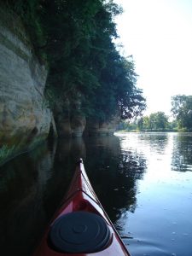
[[171,115],[171,97],[192,95],[192,1],[114,0],[125,56],[133,55],[137,86],[147,100],[144,114]]

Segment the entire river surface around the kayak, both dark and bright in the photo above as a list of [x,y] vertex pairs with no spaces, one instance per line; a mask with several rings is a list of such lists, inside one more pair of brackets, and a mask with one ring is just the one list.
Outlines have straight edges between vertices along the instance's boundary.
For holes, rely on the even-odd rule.
[[192,133],[60,139],[10,160],[0,168],[1,255],[32,254],[79,157],[132,256],[192,255]]

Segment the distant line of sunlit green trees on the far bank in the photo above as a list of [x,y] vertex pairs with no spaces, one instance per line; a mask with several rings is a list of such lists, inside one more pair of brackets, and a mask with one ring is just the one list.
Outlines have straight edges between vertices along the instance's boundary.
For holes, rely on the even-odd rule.
[[192,96],[172,96],[172,121],[164,112],[151,113],[135,121],[123,121],[120,131],[192,131]]

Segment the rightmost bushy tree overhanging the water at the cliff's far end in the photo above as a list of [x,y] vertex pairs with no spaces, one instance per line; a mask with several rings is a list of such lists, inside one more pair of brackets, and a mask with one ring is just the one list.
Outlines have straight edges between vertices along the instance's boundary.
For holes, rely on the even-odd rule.
[[91,101],[95,110],[93,117],[106,120],[116,114],[121,119],[139,116],[145,108],[145,99],[142,91],[137,89],[136,82],[133,61],[121,57],[113,45],[113,51],[108,55],[108,65],[102,70],[101,86],[96,88]]

